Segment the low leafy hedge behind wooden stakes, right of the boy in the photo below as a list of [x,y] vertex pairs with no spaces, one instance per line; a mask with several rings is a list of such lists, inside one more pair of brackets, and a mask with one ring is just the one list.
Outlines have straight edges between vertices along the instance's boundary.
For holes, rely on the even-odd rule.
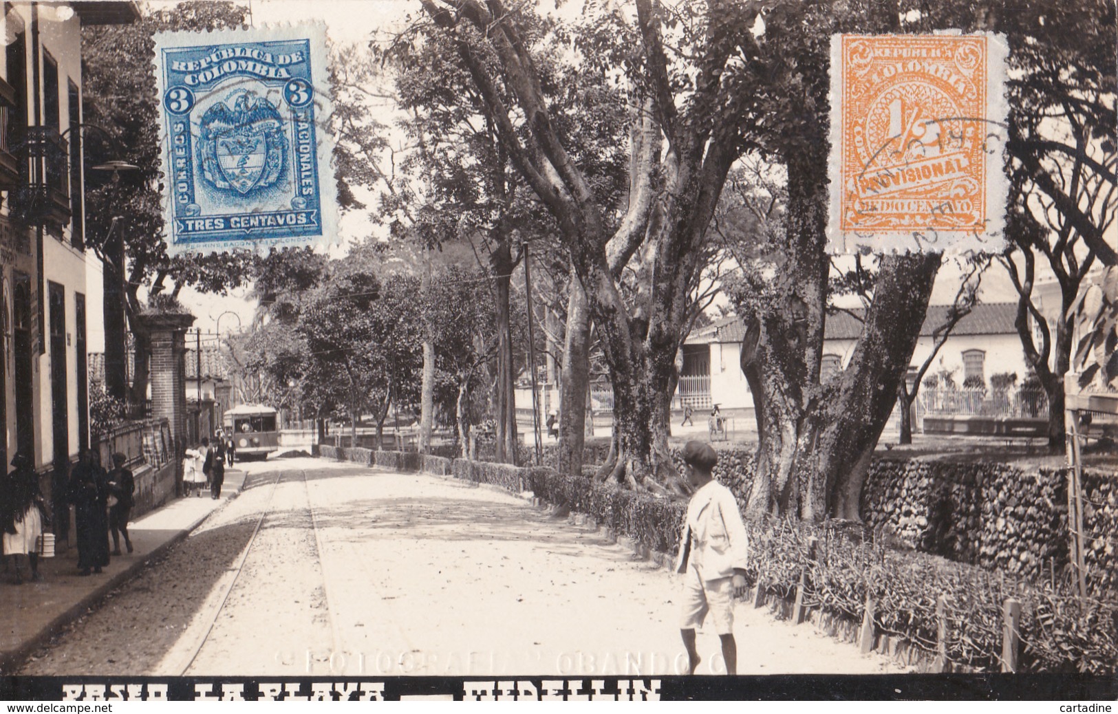
[[[1118,606],[1080,599],[1070,589],[1031,586],[980,568],[881,542],[840,534],[833,524],[750,523],[756,558],[751,578],[773,594],[790,597],[806,571],[805,603],[861,620],[874,600],[873,622],[883,634],[937,651],[937,599],[945,596],[945,648],[949,668],[998,672],[1002,663],[1003,604],[1022,602],[1020,672],[1114,674],[1118,667]],[[818,539],[815,561],[807,540]]]

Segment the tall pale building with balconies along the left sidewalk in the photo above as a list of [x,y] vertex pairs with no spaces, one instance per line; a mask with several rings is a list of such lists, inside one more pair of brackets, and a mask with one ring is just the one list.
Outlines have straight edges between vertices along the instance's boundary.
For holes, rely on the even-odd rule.
[[0,458],[31,456],[59,496],[89,442],[82,25],[134,21],[132,2],[4,3],[0,19]]

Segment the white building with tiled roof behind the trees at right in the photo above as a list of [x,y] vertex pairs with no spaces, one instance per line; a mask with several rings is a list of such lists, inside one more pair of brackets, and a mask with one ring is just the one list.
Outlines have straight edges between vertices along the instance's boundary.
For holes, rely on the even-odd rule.
[[[949,305],[930,305],[912,353],[915,372],[931,352],[932,333],[946,318]],[[841,372],[850,362],[865,311],[839,311],[827,315],[823,342],[823,378]],[[988,384],[993,374],[1029,373],[1017,335],[1015,303],[980,303],[955,325],[940,348],[929,373],[946,371],[956,383]],[[718,401],[722,409],[752,407],[752,394],[739,366],[745,324],[740,317],[716,320],[695,330],[683,344],[680,398],[701,409]],[[712,399],[718,396],[718,400]]]

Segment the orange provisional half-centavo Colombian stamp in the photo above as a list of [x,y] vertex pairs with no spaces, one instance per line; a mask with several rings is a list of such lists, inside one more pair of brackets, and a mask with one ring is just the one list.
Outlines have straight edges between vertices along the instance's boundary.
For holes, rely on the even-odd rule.
[[1008,184],[998,39],[832,38],[832,253],[1001,250]]

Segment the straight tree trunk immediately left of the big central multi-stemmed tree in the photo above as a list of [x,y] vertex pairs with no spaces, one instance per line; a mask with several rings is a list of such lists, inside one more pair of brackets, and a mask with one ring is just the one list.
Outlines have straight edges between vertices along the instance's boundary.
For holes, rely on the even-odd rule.
[[590,311],[586,292],[571,274],[567,298],[562,382],[559,394],[559,473],[582,473],[586,445],[586,404],[590,387]]

